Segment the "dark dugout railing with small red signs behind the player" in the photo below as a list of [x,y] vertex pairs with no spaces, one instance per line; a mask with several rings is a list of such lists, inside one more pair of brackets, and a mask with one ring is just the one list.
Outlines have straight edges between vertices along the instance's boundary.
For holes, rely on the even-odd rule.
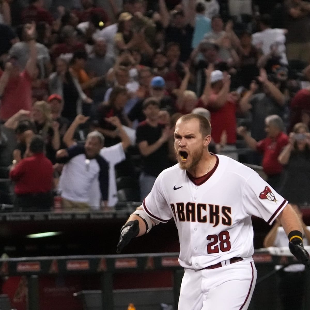
[[[283,251],[272,248],[256,250],[253,255],[258,269],[257,286],[272,276],[274,264],[286,258],[288,249]],[[39,310],[38,277],[40,275],[100,274],[102,309],[113,310],[113,274],[119,272],[148,272],[171,270],[174,274],[174,306],[177,309],[180,283],[183,276],[178,263],[179,253],[156,253],[135,255],[86,255],[52,256],[0,259],[1,276],[28,277],[29,310]],[[268,271],[261,266],[269,266]],[[271,270],[271,272],[270,272]],[[266,294],[266,292],[264,292]],[[252,308],[254,309],[254,308]],[[258,308],[257,308],[258,309]],[[259,308],[262,309],[262,308]]]

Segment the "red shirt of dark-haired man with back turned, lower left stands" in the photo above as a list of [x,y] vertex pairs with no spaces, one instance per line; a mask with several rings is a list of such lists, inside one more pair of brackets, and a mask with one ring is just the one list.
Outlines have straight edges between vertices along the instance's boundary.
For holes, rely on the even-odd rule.
[[52,189],[53,165],[43,154],[34,154],[22,159],[10,171],[15,182],[15,194],[47,193]]

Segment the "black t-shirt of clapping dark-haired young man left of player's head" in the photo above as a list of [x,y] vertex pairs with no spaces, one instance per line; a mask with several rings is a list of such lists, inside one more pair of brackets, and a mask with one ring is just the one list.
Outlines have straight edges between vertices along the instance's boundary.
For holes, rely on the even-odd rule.
[[[148,145],[154,144],[161,136],[163,125],[150,126],[146,121],[139,124],[136,131],[136,143],[147,141]],[[168,143],[162,144],[155,152],[142,157],[142,171],[147,175],[158,176],[162,170],[169,167]]]

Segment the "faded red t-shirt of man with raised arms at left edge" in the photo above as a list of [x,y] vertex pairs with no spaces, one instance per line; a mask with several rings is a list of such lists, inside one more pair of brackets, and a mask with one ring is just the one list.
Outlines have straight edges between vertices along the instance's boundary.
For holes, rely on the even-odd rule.
[[[3,71],[0,70],[0,77]],[[31,111],[32,91],[31,77],[24,70],[16,78],[10,78],[1,99],[0,118],[7,120],[20,109]]]

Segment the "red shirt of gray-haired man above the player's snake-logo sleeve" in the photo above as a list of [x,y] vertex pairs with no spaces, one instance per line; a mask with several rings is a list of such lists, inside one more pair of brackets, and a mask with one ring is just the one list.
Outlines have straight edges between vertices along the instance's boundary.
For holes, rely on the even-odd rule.
[[257,150],[263,153],[263,170],[267,175],[282,172],[283,167],[278,162],[278,157],[288,142],[289,137],[280,132],[275,139],[265,138],[257,143]]

